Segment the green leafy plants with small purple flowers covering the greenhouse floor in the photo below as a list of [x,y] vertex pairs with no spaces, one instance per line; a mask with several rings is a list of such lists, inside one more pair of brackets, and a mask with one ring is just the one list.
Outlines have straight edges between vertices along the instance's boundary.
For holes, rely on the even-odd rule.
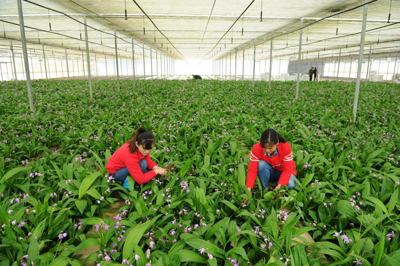
[[[400,93],[395,84],[218,80],[0,83],[0,265],[397,265]],[[105,164],[138,126],[176,168],[128,192]],[[243,204],[249,147],[288,138],[295,190]],[[98,218],[116,197],[126,205]],[[297,223],[302,224],[299,228]],[[93,228],[94,233],[87,233]],[[314,244],[296,243],[308,231]],[[326,257],[321,260],[321,255]]]

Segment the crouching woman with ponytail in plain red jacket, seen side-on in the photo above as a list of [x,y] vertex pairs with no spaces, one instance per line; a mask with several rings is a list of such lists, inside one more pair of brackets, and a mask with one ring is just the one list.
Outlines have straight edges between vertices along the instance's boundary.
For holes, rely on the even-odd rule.
[[165,175],[166,169],[158,167],[150,159],[148,153],[153,146],[154,135],[139,127],[134,137],[111,155],[105,168],[115,181],[121,181],[128,190],[128,174],[139,184],[150,181],[156,174]]

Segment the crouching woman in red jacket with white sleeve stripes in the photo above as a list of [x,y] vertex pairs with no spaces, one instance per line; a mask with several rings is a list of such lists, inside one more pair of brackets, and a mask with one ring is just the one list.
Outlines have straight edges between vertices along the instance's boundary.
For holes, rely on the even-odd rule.
[[261,133],[260,142],[253,145],[251,150],[246,180],[249,192],[254,187],[257,175],[262,191],[268,187],[269,181],[277,181],[275,189],[281,185],[293,189],[297,184],[294,180],[296,165],[290,144],[273,129],[265,129]]

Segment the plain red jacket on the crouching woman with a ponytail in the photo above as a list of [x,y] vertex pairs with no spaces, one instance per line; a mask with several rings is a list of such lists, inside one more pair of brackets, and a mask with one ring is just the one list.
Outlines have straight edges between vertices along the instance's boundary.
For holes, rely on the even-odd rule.
[[[136,149],[135,152],[130,153],[128,146],[129,143],[123,144],[108,159],[107,165],[105,166],[108,173],[113,174],[118,169],[127,167],[130,175],[137,183],[143,184],[150,181],[156,175],[155,171],[151,169],[157,164],[150,159],[149,154],[143,156],[138,149]],[[139,165],[139,161],[141,159],[145,159],[147,161],[147,169],[151,171],[146,173],[141,171]]]

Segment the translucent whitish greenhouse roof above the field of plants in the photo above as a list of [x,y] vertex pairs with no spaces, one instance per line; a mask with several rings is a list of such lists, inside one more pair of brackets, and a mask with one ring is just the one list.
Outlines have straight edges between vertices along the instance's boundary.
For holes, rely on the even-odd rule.
[[[237,55],[242,56],[244,45],[245,59],[252,60],[255,40],[256,58],[264,59],[269,58],[271,37],[273,58],[297,58],[303,18],[302,55],[311,59],[317,57],[318,51],[320,57],[337,56],[340,47],[341,56],[358,54],[363,2],[22,0],[22,9],[31,53],[41,52],[44,45],[46,54],[63,55],[67,49],[69,55],[81,55],[80,50],[85,51],[82,23],[86,14],[89,50],[100,56],[115,55],[116,29],[118,56],[122,58],[131,58],[133,38],[135,56],[142,53],[143,43],[145,56],[150,55],[151,47],[152,57],[157,51],[158,56],[161,53],[183,60],[234,56],[235,48]],[[373,57],[393,56],[400,45],[400,2],[367,2],[364,53],[368,53],[372,43]],[[0,52],[9,51],[12,40],[15,51],[21,53],[20,39],[16,0],[0,0]]]

